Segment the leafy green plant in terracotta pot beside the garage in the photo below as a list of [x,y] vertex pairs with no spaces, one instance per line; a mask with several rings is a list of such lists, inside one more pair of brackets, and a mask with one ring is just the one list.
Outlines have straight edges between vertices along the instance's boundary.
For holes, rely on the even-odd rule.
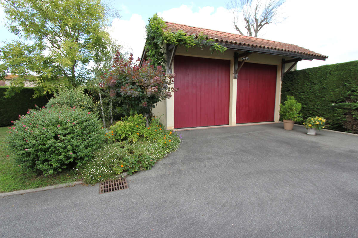
[[284,121],[285,130],[292,130],[295,122],[303,120],[301,108],[301,103],[297,102],[294,96],[287,96],[284,105],[280,104],[280,118]]

